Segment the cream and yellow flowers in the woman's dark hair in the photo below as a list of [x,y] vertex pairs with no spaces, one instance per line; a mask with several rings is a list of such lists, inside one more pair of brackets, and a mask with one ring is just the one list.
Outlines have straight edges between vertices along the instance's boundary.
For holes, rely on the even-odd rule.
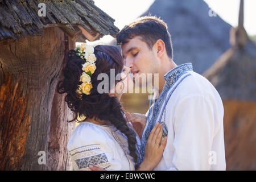
[[[93,46],[90,46],[88,44],[81,44],[81,46],[77,46],[76,49],[76,55],[80,56],[81,59],[84,59],[85,62],[82,64],[82,75],[80,76],[80,81],[82,84],[77,85],[78,88],[76,90],[79,94],[90,94],[90,90],[93,88],[92,82],[90,81],[90,76],[94,73],[96,70],[95,61],[96,56],[94,55],[94,48]],[[80,97],[81,99],[81,97]]]

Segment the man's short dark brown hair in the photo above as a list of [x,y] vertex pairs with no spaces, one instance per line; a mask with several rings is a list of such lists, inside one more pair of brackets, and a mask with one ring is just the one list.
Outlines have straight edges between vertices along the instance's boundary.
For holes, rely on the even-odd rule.
[[167,24],[163,20],[156,16],[143,16],[136,19],[117,34],[117,44],[125,44],[135,36],[141,36],[143,42],[147,43],[150,49],[152,49],[156,40],[163,40],[167,55],[173,58],[171,35],[168,32]]

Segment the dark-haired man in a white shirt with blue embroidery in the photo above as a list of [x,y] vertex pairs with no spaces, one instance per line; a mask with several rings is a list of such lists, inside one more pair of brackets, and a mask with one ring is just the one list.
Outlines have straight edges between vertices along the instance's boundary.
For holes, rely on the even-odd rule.
[[142,74],[159,75],[159,97],[146,114],[142,159],[150,131],[156,122],[164,122],[167,144],[154,170],[225,170],[220,95],[206,78],[192,71],[191,63],[175,64],[167,24],[144,16],[124,27],[117,43],[135,79]]

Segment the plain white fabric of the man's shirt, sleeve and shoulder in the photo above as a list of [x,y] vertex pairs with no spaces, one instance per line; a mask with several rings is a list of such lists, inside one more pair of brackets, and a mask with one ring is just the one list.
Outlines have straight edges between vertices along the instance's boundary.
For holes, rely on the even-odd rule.
[[[159,110],[166,109],[158,119],[164,121],[168,135],[163,158],[154,170],[225,170],[224,108],[220,95],[203,76],[192,70],[186,73],[189,76],[175,80],[175,89],[172,86],[167,90],[164,97],[170,97]],[[144,133],[152,115],[147,116]]]

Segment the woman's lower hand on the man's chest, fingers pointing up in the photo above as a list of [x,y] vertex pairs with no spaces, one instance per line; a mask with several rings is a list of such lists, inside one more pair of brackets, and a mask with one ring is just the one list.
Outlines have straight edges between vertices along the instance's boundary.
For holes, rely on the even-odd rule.
[[[166,147],[167,137],[162,140],[163,124],[156,122],[152,129],[145,148],[144,160],[138,168],[138,171],[151,171],[160,162]],[[161,142],[162,141],[162,142]]]

